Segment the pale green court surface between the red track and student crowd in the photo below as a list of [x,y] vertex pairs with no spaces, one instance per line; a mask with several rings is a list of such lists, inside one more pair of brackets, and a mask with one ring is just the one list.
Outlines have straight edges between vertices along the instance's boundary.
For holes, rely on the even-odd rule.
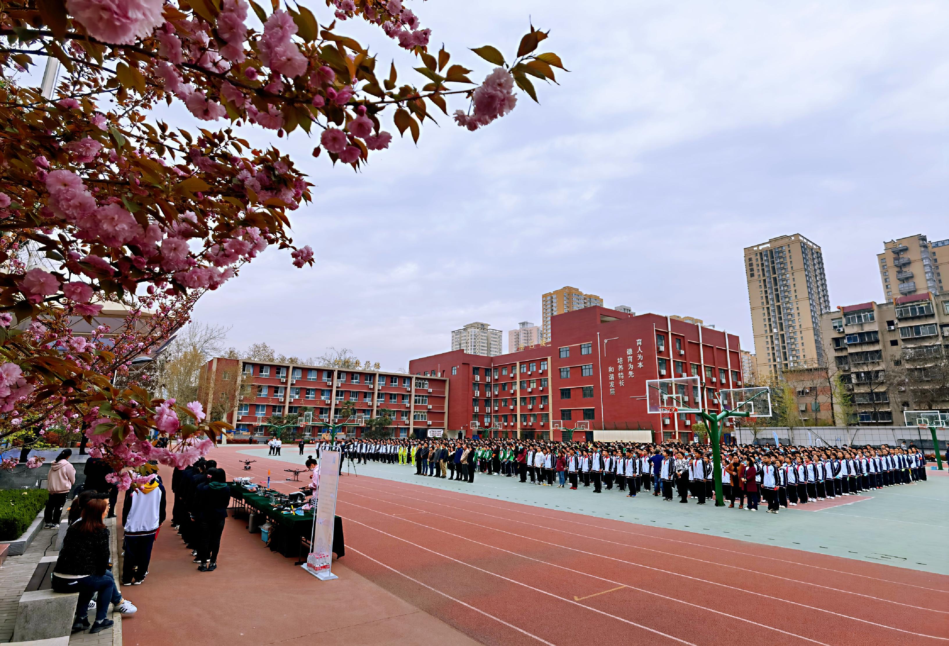
[[[298,455],[296,447],[290,446],[284,448],[282,456],[268,456],[266,447],[219,447],[215,451],[236,451],[247,456],[243,459],[257,460],[251,474],[263,474],[266,479],[266,469],[270,468],[273,481],[283,480],[286,475],[278,466],[281,462],[303,464],[306,460],[306,455]],[[353,477],[346,475],[347,467],[343,469],[344,478]],[[369,463],[355,468],[366,476],[489,499],[949,574],[949,560],[945,558],[949,478],[933,471],[924,483],[886,487],[867,492],[866,497],[845,496],[838,498],[835,502],[840,504],[833,507],[798,505],[775,517],[763,510],[752,513],[737,507],[698,506],[692,501],[687,505],[663,503],[661,498],[642,494],[630,499],[616,489],[593,496],[592,487],[570,491],[522,485],[515,478],[480,473],[469,485],[417,476],[415,468],[407,465]]]

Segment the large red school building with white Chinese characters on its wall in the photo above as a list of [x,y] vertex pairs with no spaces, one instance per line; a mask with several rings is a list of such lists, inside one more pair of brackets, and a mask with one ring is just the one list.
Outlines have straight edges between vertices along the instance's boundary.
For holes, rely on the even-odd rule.
[[[649,413],[646,380],[698,375],[706,407],[741,388],[738,337],[661,316],[589,307],[551,318],[551,342],[497,356],[442,352],[413,359],[417,376],[446,377],[451,437],[692,441],[692,413]],[[726,428],[726,432],[727,432]],[[575,437],[575,436],[574,436]]]

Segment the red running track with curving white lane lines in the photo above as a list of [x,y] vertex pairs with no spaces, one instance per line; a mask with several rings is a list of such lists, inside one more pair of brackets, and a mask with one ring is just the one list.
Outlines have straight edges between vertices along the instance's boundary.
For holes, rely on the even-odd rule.
[[949,642],[931,573],[367,476],[337,513],[349,568],[485,644]]

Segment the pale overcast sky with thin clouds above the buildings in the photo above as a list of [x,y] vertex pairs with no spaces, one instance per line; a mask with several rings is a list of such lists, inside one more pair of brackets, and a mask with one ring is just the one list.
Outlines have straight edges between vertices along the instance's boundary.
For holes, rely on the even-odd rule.
[[883,299],[884,240],[949,237],[944,0],[405,4],[473,79],[490,66],[465,47],[512,53],[529,17],[571,71],[541,105],[521,93],[474,133],[442,118],[359,174],[272,138],[316,184],[291,220],[317,260],[269,250],[204,296],[195,319],[233,325],[231,345],[394,370],[471,321],[540,324],[540,295],[572,285],[753,349],[744,247],[809,237],[836,307]]

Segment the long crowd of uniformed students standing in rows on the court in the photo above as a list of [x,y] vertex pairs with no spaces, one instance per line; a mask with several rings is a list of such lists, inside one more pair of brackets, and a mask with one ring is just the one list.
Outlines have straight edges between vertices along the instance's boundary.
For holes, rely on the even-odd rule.
[[[712,448],[708,445],[561,443],[515,440],[383,440],[344,443],[357,463],[415,466],[416,475],[474,482],[475,473],[593,493],[642,492],[686,504],[714,498]],[[910,447],[722,447],[721,482],[730,507],[768,511],[852,496],[884,486],[926,479],[926,458]],[[747,502],[747,506],[746,506]]]

